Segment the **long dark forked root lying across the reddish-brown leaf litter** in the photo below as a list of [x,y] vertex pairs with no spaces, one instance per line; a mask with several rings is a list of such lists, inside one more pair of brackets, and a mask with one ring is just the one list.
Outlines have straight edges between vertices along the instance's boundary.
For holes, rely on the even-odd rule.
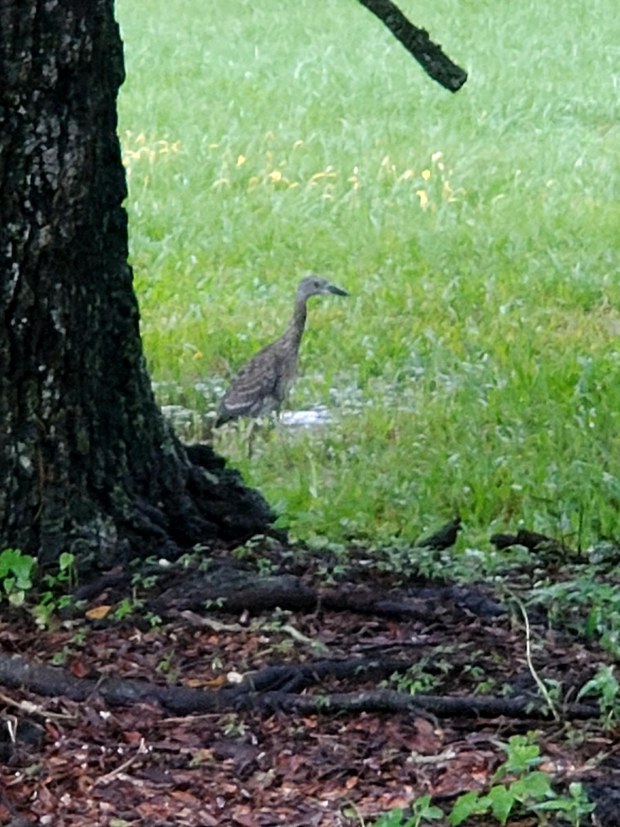
[[[173,715],[222,714],[240,710],[262,710],[267,714],[280,710],[298,715],[327,715],[341,712],[386,712],[436,718],[551,718],[548,706],[536,696],[513,698],[494,696],[442,697],[416,695],[392,690],[336,692],[318,696],[298,695],[296,690],[316,682],[328,674],[340,673],[367,677],[370,673],[393,671],[411,663],[320,662],[302,667],[267,667],[249,676],[239,686],[218,691],[188,686],[159,686],[133,678],[79,678],[60,667],[31,663],[19,655],[0,654],[0,682],[21,687],[43,696],[65,696],[79,702],[101,696],[110,705],[156,703]],[[283,688],[279,689],[281,686]],[[593,719],[599,707],[587,704],[566,704],[560,709],[562,719]]]

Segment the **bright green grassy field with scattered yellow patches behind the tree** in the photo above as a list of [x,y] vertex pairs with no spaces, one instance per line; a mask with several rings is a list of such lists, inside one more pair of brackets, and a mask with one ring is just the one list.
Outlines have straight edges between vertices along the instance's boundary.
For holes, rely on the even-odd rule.
[[316,270],[351,297],[313,301],[289,407],[333,422],[215,437],[293,537],[406,547],[458,511],[472,574],[492,531],[618,538],[620,16],[400,5],[459,93],[354,0],[117,3],[158,397],[201,433]]

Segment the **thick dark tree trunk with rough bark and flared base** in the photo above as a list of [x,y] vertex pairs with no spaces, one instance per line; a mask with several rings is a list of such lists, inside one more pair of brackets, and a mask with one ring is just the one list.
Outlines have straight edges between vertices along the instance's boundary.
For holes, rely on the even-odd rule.
[[265,532],[265,501],[151,391],[113,0],[0,0],[0,33],[0,550],[92,570]]

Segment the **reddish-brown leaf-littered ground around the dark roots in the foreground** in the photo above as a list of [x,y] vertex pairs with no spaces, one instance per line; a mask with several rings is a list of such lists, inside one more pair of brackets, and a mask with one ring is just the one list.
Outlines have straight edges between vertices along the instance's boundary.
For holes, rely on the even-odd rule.
[[[289,571],[320,590],[334,574],[325,554],[312,560],[304,552],[303,566],[285,548],[261,549],[256,557],[263,569]],[[589,714],[588,699],[583,714],[573,719],[562,710],[608,656],[592,642],[550,629],[544,613],[530,613],[532,665],[542,680],[557,681],[560,720],[545,714],[540,703],[532,715],[493,718],[472,716],[465,708],[447,716],[422,703],[401,711],[377,711],[380,704],[374,704],[371,710],[370,692],[374,700],[410,698],[411,691],[461,700],[540,700],[540,695],[527,664],[522,619],[492,590],[449,590],[419,579],[397,587],[363,557],[341,573],[341,592],[345,581],[354,581],[355,594],[384,598],[378,613],[338,610],[340,592],[333,588],[325,591],[330,608],[270,609],[252,616],[212,604],[198,612],[183,605],[184,595],[196,593],[204,577],[191,570],[173,571],[160,583],[141,577],[133,589],[117,583],[55,629],[36,629],[26,614],[6,619],[0,627],[4,653],[60,664],[84,680],[120,676],[212,694],[274,665],[360,658],[387,659],[400,667],[391,678],[380,669],[374,675],[326,673],[298,694],[303,705],[338,693],[347,703],[355,700],[356,712],[325,707],[308,714],[288,705],[290,695],[277,693],[269,708],[261,709],[257,693],[251,709],[240,705],[174,716],[155,702],[108,705],[97,691],[76,702],[7,688],[0,696],[2,824],[21,827],[17,817],[23,816],[29,820],[23,824],[72,827],[362,825],[425,793],[447,811],[461,792],[489,786],[505,758],[501,744],[510,735],[532,730],[545,757],[541,768],[557,786],[586,782],[599,801],[592,823],[620,824],[620,818],[613,820],[620,812],[613,805],[614,785],[620,789],[618,732],[603,729],[599,717],[592,717],[597,712],[592,700]],[[408,597],[419,610],[398,609]],[[108,605],[107,616],[96,619]],[[112,619],[131,607],[133,614]],[[165,619],[155,618],[154,607]],[[606,814],[605,801],[612,815]]]

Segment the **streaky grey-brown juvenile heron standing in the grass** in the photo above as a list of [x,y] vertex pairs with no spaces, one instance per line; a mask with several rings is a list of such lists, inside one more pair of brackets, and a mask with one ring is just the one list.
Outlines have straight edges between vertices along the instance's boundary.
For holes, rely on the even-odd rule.
[[272,342],[241,367],[231,381],[226,394],[217,409],[215,427],[238,417],[257,417],[279,410],[289,393],[297,373],[299,343],[308,310],[306,303],[310,296],[333,293],[348,296],[318,275],[308,275],[299,282],[293,318],[279,339]]

